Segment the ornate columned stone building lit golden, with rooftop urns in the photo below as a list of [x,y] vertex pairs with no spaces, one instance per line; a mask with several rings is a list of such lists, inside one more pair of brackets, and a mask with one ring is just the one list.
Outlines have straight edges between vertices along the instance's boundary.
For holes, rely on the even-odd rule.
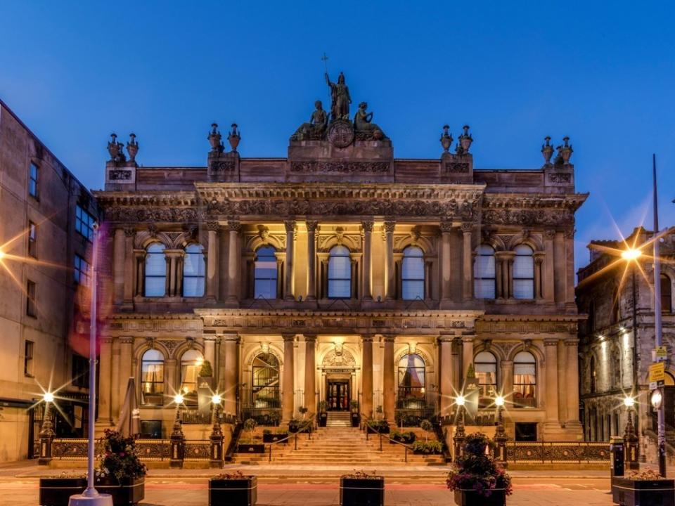
[[236,125],[231,150],[213,126],[205,167],[139,167],[113,148],[95,193],[114,308],[101,429],[129,376],[144,434],[167,436],[174,394],[198,417],[200,385],[240,418],[286,423],[326,402],[394,422],[451,415],[475,370],[479,417],[503,393],[512,437],[581,438],[586,195],[567,140],[555,163],[546,141],[541,169],[474,169],[468,126],[455,153],[446,128],[439,156],[398,159],[366,108],[329,122],[318,103],[283,158],[241,156]]

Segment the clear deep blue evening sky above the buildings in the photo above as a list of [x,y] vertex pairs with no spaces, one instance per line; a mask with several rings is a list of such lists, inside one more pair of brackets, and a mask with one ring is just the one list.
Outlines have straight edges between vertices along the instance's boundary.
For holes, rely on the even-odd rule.
[[148,166],[205,165],[207,131],[240,125],[244,157],[283,157],[321,54],[352,113],[375,112],[397,157],[438,157],[470,124],[477,168],[541,167],[574,145],[577,266],[591,238],[675,224],[675,8],[670,2],[0,2],[0,98],[90,188],[111,131]]

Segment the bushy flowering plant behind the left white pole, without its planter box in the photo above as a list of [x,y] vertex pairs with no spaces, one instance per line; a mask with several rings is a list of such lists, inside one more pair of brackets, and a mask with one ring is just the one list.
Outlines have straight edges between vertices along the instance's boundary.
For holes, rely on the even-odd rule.
[[139,459],[134,436],[124,437],[115,430],[105,429],[98,443],[101,454],[98,455],[97,478],[112,476],[119,482],[146,475],[146,465]]

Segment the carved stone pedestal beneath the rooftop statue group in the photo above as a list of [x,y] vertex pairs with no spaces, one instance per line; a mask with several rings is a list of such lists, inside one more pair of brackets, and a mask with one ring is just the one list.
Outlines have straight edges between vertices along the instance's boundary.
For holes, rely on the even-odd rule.
[[394,149],[389,139],[354,141],[338,148],[330,141],[290,141],[286,180],[393,183]]

